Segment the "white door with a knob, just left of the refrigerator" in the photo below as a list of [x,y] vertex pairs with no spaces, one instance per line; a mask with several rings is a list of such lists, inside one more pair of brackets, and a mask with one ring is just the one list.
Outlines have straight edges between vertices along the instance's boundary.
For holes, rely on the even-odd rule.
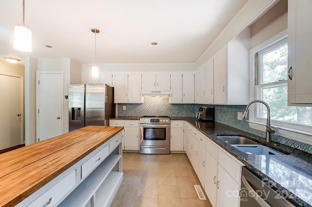
[[37,141],[62,134],[62,72],[37,72],[37,100]]

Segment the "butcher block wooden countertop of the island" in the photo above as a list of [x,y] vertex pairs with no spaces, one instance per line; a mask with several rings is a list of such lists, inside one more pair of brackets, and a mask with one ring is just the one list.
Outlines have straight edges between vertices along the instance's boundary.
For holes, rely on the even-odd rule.
[[0,154],[0,207],[17,205],[122,129],[88,126]]

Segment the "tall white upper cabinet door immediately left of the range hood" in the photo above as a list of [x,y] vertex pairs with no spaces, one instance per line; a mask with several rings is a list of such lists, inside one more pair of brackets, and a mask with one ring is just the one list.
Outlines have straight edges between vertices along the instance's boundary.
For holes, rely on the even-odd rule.
[[128,74],[128,103],[143,103],[141,73]]

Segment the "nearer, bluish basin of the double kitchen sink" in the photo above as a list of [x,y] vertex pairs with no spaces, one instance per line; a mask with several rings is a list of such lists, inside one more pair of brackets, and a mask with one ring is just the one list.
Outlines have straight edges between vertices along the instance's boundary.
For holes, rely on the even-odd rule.
[[232,146],[239,151],[245,152],[246,154],[284,155],[281,152],[275,151],[263,145],[232,145]]

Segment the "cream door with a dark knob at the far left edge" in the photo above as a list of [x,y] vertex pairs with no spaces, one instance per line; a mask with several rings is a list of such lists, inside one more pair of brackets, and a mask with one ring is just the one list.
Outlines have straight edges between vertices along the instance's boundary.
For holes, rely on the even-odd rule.
[[22,144],[23,79],[0,74],[0,150]]

